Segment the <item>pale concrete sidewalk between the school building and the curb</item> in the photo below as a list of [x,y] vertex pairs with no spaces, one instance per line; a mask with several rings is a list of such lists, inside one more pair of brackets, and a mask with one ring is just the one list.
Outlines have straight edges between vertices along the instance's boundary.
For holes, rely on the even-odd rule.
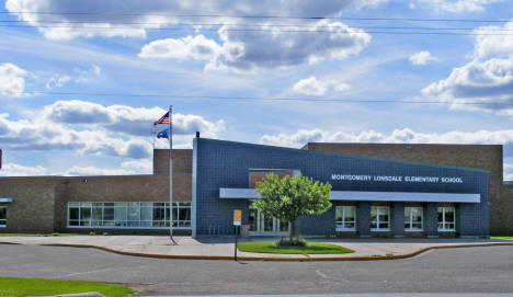
[[[0,237],[0,243],[66,245],[98,248],[110,252],[153,258],[174,259],[232,259],[233,238],[175,237],[171,245],[166,236],[62,236],[62,237]],[[251,239],[270,241],[272,238]],[[413,256],[430,249],[475,245],[513,245],[513,240],[491,239],[311,239],[352,249],[347,254],[264,254],[238,251],[241,260],[379,260]]]

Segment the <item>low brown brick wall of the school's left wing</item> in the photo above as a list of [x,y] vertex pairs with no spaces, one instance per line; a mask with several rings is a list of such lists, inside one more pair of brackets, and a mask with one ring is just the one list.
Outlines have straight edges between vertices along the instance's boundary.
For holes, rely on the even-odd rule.
[[[173,175],[174,202],[191,202],[191,181],[190,174]],[[160,233],[146,229],[67,229],[68,202],[169,202],[169,175],[0,178],[0,196],[13,199],[2,204],[8,206],[7,228],[0,232]]]

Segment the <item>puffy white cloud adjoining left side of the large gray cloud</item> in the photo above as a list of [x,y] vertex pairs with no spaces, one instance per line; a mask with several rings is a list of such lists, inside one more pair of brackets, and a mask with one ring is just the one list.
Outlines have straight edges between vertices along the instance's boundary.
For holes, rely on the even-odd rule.
[[203,35],[183,38],[166,38],[151,42],[139,53],[141,58],[170,58],[210,60],[218,56],[221,47]]

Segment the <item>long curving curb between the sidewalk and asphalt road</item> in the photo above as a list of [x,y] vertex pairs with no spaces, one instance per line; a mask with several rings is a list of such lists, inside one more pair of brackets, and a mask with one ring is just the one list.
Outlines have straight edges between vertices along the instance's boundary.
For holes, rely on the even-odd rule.
[[[0,244],[25,244],[19,242],[1,242]],[[36,245],[44,247],[66,247],[66,248],[84,248],[84,249],[98,249],[111,253],[141,256],[141,258],[156,258],[156,259],[175,259],[175,260],[233,260],[233,256],[229,255],[180,255],[180,254],[151,254],[151,253],[139,253],[139,252],[127,252],[121,250],[114,250],[105,247],[92,245],[92,244],[73,244],[73,243],[42,243]],[[459,249],[459,248],[477,248],[477,247],[497,247],[497,245],[513,245],[513,242],[490,242],[490,243],[464,243],[457,245],[433,245],[417,250],[411,253],[397,254],[397,255],[376,255],[376,256],[326,256],[326,258],[280,258],[280,256],[237,256],[237,260],[244,261],[280,261],[280,262],[306,262],[306,261],[374,261],[374,260],[400,260],[408,259],[429,250],[442,250],[442,249]]]

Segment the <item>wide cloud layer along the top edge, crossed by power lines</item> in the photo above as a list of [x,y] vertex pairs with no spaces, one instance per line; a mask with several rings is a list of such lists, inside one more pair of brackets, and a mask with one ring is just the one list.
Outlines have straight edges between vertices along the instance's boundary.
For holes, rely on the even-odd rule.
[[[78,36],[124,36],[145,37],[148,28],[158,28],[167,25],[198,23],[197,18],[185,15],[201,15],[208,12],[212,15],[339,15],[351,8],[375,8],[387,0],[298,0],[294,4],[284,1],[264,0],[218,0],[208,1],[198,5],[194,1],[180,0],[7,0],[5,9],[30,25],[39,30],[47,38],[69,39]],[[19,13],[30,11],[35,13]],[[48,26],[45,21],[48,15],[37,12],[102,12],[91,13],[87,18],[82,14],[55,13],[52,21],[61,22]],[[138,12],[138,13],[134,13]],[[181,16],[182,15],[182,16]],[[232,18],[209,18],[212,23],[247,22]],[[201,23],[201,22],[200,22]],[[201,26],[194,26],[195,28]]]

